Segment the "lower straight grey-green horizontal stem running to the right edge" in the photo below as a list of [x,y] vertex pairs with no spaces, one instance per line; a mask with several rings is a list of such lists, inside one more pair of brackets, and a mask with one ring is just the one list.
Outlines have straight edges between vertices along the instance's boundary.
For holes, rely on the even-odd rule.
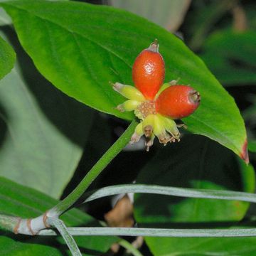
[[[125,235],[166,238],[241,238],[255,237],[256,228],[172,229],[172,228],[68,228],[71,235]],[[38,235],[57,235],[54,230],[41,230]]]

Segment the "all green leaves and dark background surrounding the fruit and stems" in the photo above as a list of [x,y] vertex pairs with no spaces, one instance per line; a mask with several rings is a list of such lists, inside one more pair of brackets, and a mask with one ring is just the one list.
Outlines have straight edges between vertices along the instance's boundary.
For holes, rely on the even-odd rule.
[[[108,81],[132,84],[134,58],[155,37],[166,62],[166,80],[180,77],[181,82],[201,92],[201,108],[184,119],[188,132],[206,135],[229,149],[188,132],[184,132],[179,144],[165,148],[156,144],[149,153],[144,152],[142,142],[119,154],[91,188],[136,180],[165,186],[254,191],[255,4],[159,1],[156,12],[151,1],[143,3],[138,6],[138,1],[97,1],[137,10],[137,14],[152,18],[169,31],[178,31],[182,39],[144,18],[106,7],[76,3],[80,4],[81,19],[74,11],[76,5],[68,1],[51,5],[44,1],[8,1],[3,5],[12,21],[1,10],[4,39],[0,38],[0,78],[14,65],[12,48],[16,65],[0,82],[0,174],[4,177],[0,182],[1,213],[33,217],[54,205],[56,201],[48,196],[63,198],[75,188],[127,127],[124,120],[132,119],[132,114],[114,110],[122,97],[112,91]],[[203,59],[235,98],[240,111],[182,41]],[[96,112],[81,102],[112,115]],[[241,154],[245,142],[240,112],[249,138],[249,166],[230,151]],[[248,203],[238,201],[135,196],[134,217],[138,225],[154,228],[233,227],[240,221],[252,225],[255,209],[248,207]],[[81,208],[98,220],[103,220],[110,209],[109,199]],[[67,214],[68,225],[95,225],[95,220],[85,213],[73,210]],[[99,255],[117,240],[81,238],[78,243],[85,255]],[[9,233],[2,233],[0,240],[2,255],[65,255],[66,248],[60,244],[59,240],[32,240]],[[14,245],[17,250],[10,252]],[[232,255],[234,251],[250,255],[253,250],[254,238],[146,238],[141,248],[144,255]]]

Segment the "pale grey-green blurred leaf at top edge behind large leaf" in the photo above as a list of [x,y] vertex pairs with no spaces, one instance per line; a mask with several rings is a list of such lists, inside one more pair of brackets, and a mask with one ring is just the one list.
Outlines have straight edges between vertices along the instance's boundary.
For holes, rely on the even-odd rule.
[[114,7],[131,11],[166,28],[168,31],[177,31],[186,15],[191,0],[110,0]]

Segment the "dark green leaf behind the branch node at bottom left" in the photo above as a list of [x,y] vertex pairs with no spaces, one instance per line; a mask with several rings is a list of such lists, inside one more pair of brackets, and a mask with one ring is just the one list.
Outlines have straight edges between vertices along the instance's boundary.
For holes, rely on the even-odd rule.
[[[18,215],[22,218],[33,218],[55,206],[58,201],[32,188],[18,185],[6,178],[0,178],[0,213]],[[90,215],[80,210],[69,210],[62,216],[68,226],[99,225]],[[0,232],[0,255],[66,255],[68,247],[59,237],[31,237]],[[78,243],[83,255],[102,255],[106,252],[115,237],[78,237]]]

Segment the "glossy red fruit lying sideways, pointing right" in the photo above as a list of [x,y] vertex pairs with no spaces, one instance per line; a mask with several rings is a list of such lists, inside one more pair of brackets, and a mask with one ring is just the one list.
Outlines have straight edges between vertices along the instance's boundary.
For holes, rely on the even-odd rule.
[[199,92],[187,85],[172,85],[156,99],[156,112],[172,119],[188,117],[200,104]]

